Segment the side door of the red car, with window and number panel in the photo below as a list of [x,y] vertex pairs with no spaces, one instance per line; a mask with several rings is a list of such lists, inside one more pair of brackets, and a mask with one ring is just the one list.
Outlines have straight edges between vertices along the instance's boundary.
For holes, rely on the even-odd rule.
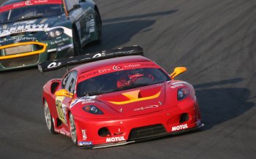
[[[62,89],[67,90],[69,93],[74,93],[75,91],[75,82],[77,79],[78,73],[77,71],[71,71],[69,74],[67,74],[61,83]],[[66,96],[56,96],[56,109],[59,116],[59,119],[62,123],[65,125],[68,125],[67,123],[67,109],[72,102],[72,98],[66,97]]]

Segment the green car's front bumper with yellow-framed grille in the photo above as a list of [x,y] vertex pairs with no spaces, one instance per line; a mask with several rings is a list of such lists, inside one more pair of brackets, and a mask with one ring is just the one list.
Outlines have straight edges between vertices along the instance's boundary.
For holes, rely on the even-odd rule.
[[[1,46],[0,71],[37,66],[37,63],[72,56],[74,53],[72,38],[67,36],[61,39],[47,42],[18,42]],[[31,50],[15,53],[23,46],[31,46]],[[10,55],[4,53],[7,49],[10,50]]]

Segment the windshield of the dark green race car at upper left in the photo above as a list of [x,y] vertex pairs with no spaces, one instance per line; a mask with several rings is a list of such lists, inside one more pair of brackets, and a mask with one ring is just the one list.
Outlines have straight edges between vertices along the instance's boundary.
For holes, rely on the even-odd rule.
[[0,23],[11,23],[20,20],[58,16],[62,13],[63,9],[61,4],[41,4],[16,7],[0,12]]

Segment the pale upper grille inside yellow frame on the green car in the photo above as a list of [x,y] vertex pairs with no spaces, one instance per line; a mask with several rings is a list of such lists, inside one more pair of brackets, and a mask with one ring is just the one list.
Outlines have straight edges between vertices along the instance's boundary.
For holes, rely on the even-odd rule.
[[8,47],[4,49],[5,55],[14,55],[19,53],[29,53],[33,51],[31,44],[23,44],[16,47]]

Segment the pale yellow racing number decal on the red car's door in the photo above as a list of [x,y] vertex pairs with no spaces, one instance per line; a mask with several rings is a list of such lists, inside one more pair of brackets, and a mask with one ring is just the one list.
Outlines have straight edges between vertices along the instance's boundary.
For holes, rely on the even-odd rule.
[[62,123],[67,124],[67,106],[63,104],[62,102],[64,101],[63,96],[57,96],[56,97],[56,109],[58,112],[59,119],[62,121]]

